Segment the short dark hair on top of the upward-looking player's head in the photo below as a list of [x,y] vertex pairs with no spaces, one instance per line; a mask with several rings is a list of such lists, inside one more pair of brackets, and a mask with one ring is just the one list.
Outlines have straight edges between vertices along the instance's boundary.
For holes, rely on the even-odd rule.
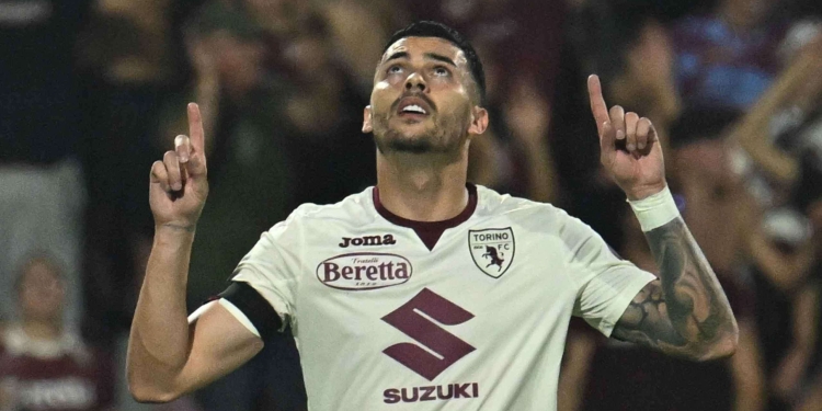
[[468,60],[468,69],[471,70],[471,77],[473,77],[473,81],[477,83],[480,105],[486,105],[486,72],[482,69],[482,61],[477,56],[477,50],[473,49],[473,46],[468,43],[463,34],[443,23],[423,20],[411,23],[409,26],[393,33],[386,46],[383,47],[383,54],[386,53],[388,47],[397,43],[398,39],[406,37],[438,37],[447,39],[463,50]]

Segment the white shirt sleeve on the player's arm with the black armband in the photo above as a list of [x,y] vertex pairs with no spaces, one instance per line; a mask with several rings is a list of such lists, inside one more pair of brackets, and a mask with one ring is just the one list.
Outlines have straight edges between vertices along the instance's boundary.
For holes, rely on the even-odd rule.
[[284,326],[297,317],[299,242],[293,217],[263,232],[231,275],[232,282],[247,283],[271,304]]

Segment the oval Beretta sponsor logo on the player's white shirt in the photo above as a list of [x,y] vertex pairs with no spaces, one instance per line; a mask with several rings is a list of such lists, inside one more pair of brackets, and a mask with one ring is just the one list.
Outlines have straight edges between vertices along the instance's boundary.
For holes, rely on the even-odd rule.
[[378,252],[354,252],[332,256],[317,265],[317,279],[339,289],[376,289],[406,283],[411,262],[404,256]]

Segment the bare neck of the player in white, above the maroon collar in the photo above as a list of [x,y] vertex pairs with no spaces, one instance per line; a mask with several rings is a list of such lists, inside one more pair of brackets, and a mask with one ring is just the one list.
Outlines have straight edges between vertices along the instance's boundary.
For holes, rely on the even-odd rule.
[[468,204],[467,153],[458,161],[430,161],[427,155],[377,153],[379,201],[391,213],[415,221],[442,221]]

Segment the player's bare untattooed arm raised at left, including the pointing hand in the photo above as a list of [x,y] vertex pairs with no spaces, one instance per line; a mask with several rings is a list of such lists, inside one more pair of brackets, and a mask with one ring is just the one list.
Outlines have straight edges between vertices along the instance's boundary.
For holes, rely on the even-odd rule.
[[155,242],[128,341],[132,395],[167,402],[194,391],[253,357],[263,341],[221,305],[191,326],[185,307],[189,262],[197,219],[208,195],[203,123],[189,105],[191,139],[179,136],[151,168],[149,203]]

